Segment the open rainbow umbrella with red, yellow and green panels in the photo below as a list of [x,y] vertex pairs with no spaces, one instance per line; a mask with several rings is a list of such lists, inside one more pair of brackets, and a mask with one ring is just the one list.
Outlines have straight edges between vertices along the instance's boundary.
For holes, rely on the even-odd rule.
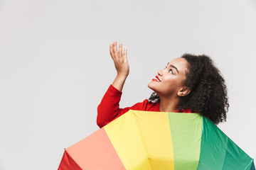
[[130,110],[65,149],[58,169],[255,170],[255,166],[198,113]]

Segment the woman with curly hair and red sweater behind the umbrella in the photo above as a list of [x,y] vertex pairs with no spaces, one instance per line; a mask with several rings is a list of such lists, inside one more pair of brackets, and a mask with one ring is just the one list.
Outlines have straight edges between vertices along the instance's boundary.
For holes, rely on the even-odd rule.
[[111,43],[110,55],[117,69],[117,77],[110,85],[97,108],[97,125],[102,128],[129,109],[178,113],[200,113],[216,125],[226,120],[228,96],[225,80],[206,55],[185,54],[171,60],[159,70],[148,86],[154,92],[142,103],[119,108],[124,81],[129,74],[127,48]]

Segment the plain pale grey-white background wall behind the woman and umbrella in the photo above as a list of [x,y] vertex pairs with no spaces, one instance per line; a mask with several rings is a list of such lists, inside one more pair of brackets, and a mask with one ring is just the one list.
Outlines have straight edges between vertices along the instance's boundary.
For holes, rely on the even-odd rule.
[[0,1],[0,169],[58,169],[64,149],[99,128],[97,106],[128,49],[120,106],[184,52],[210,55],[228,86],[218,125],[256,158],[256,1]]

